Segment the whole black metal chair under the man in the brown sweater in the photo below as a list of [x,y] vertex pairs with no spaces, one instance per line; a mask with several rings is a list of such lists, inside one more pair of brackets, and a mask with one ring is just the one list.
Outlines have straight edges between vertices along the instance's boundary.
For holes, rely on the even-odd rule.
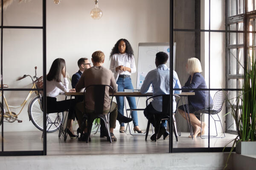
[[[111,143],[111,134],[110,134],[110,129],[109,129],[109,113],[110,110],[107,114],[103,113],[103,105],[104,105],[104,97],[105,97],[105,88],[110,88],[112,90],[112,95],[110,95],[111,97],[111,104],[110,104],[110,108],[112,105],[112,100],[113,100],[113,96],[114,96],[114,91],[113,88],[110,85],[89,85],[84,89],[84,97],[85,96],[85,91],[93,91],[93,98],[94,98],[94,113],[93,114],[86,114],[87,116],[87,129],[88,129],[88,136],[86,139],[86,143],[88,143],[89,138],[90,138],[90,133],[92,130],[92,126],[93,126],[93,120],[96,118],[100,118],[101,120],[103,120],[106,130],[108,132],[108,137],[107,139],[109,140],[109,142]],[[85,102],[84,102],[84,110],[85,110]],[[82,122],[82,127],[84,127],[85,121],[83,120]]]

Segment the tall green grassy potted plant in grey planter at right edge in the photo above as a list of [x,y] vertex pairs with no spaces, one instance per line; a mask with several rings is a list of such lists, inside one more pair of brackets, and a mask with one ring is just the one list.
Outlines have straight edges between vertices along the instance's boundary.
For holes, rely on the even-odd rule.
[[[236,98],[236,105],[228,100],[232,107],[227,114],[232,114],[235,119],[238,135],[230,141],[233,141],[233,146],[227,161],[235,147],[236,153],[256,154],[256,61],[253,56],[247,59],[247,65],[243,67],[243,87],[240,95]],[[239,64],[241,65],[241,63]]]

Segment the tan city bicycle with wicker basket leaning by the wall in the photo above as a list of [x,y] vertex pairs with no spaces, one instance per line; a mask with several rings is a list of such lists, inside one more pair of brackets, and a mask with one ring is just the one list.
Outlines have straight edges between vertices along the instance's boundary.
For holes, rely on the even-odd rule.
[[[33,88],[42,88],[43,87],[43,77],[37,77],[36,74],[36,69],[37,66],[35,66],[35,76],[30,76],[30,75],[23,75],[23,77],[20,77],[17,79],[17,81],[24,79],[26,77],[30,77],[32,80],[32,89]],[[3,85],[3,88],[8,88],[8,85]],[[5,120],[4,122],[22,122],[22,120],[17,119],[17,116],[21,113],[23,110],[26,102],[30,98],[31,94],[34,93],[36,96],[30,101],[29,106],[28,106],[28,116],[29,116],[29,121],[35,125],[39,130],[43,131],[43,108],[41,104],[41,91],[29,91],[29,94],[26,96],[25,100],[20,106],[10,106],[7,103],[7,100],[5,96],[3,95],[3,99],[7,108],[7,112],[5,110],[2,111],[2,103],[0,102],[0,125],[2,124],[2,113],[3,113],[3,119]],[[0,96],[2,96],[2,92],[0,92]],[[10,111],[10,108],[20,108],[20,112],[16,114],[15,112]],[[47,132],[55,132],[56,130],[59,130],[61,126],[63,125],[63,119],[64,113],[47,113]],[[49,125],[49,127],[48,127]],[[54,126],[53,126],[54,125]],[[60,136],[60,133],[59,133]]]

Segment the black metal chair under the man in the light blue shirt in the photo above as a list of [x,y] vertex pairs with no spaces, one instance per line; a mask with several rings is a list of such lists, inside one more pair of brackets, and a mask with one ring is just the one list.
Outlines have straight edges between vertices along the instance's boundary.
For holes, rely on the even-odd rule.
[[[155,124],[155,134],[156,134],[155,142],[157,141],[157,136],[158,136],[158,132],[160,130],[161,120],[168,120],[168,123],[170,125],[170,116],[169,116],[169,113],[170,113],[170,95],[169,94],[157,95],[157,96],[152,96],[148,99],[152,99],[152,98],[158,97],[158,96],[162,96],[162,112],[152,115],[153,118],[154,118],[154,124]],[[147,106],[148,106],[148,99],[146,100],[146,105]],[[172,116],[173,116],[172,126],[174,128],[174,134],[175,134],[175,137],[176,137],[176,141],[178,141],[175,114],[172,114]],[[149,126],[150,126],[150,122],[148,120],[145,141],[147,140],[147,137],[148,137]]]

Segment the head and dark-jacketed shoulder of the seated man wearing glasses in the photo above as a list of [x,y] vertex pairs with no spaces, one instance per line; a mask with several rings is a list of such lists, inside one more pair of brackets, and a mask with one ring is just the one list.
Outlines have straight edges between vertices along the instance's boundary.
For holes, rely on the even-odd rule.
[[79,67],[79,71],[76,74],[73,74],[72,76],[72,88],[76,88],[76,84],[79,81],[79,79],[81,78],[81,75],[83,74],[84,70],[86,70],[87,68],[91,67],[91,63],[89,61],[89,59],[87,58],[81,58],[77,61],[77,65]]

